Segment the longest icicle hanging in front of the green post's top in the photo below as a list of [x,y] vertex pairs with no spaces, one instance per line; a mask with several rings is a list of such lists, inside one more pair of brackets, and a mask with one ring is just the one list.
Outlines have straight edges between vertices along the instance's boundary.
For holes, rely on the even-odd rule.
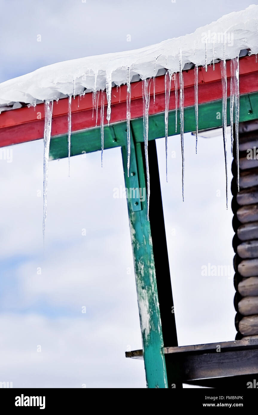
[[149,173],[149,158],[148,158],[148,133],[149,133],[149,107],[150,107],[150,80],[143,80],[143,135],[144,135],[144,149],[146,161],[146,177],[147,177],[147,220],[149,220],[149,205],[150,205],[150,173]]

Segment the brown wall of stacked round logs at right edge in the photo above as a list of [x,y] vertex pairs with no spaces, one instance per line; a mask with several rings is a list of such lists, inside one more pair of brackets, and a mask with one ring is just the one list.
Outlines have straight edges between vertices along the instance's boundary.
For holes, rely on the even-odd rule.
[[[257,158],[256,158],[257,148]],[[249,150],[252,150],[251,151]],[[249,151],[248,151],[249,150]],[[258,121],[239,124],[239,184],[233,149],[234,286],[236,339],[258,338]],[[252,158],[249,158],[250,155]],[[248,156],[248,157],[247,157]]]

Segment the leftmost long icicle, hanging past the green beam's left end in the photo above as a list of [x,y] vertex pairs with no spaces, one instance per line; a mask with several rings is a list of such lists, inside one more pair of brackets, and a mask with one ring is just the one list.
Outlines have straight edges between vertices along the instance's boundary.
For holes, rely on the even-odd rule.
[[44,181],[43,181],[43,244],[45,249],[45,227],[47,219],[47,177],[49,161],[49,145],[52,127],[53,101],[45,101],[45,123],[44,123]]

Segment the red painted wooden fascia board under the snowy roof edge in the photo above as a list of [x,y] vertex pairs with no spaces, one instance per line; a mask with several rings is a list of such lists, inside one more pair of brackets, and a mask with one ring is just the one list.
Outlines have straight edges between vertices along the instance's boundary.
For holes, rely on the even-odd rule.
[[[230,92],[230,61],[227,61],[228,95]],[[258,63],[255,56],[246,56],[239,59],[239,88],[240,94],[258,91]],[[207,72],[199,68],[198,73],[198,102],[199,104],[219,100],[222,97],[220,64],[208,66]],[[178,76],[178,74],[177,74]],[[184,106],[194,105],[194,70],[183,71],[184,76]],[[153,85],[153,81],[152,85]],[[165,110],[165,82],[164,76],[155,79],[155,104],[153,100],[153,87],[150,90],[149,114],[156,114]],[[177,79],[179,85],[179,79]],[[175,108],[174,81],[171,82],[170,110]],[[126,94],[127,87],[112,88],[111,95],[111,123],[126,120]],[[131,119],[143,116],[142,81],[131,84]],[[178,91],[179,97],[179,91]],[[93,114],[92,93],[76,96],[72,99],[72,131],[78,131],[96,126],[96,111]],[[179,100],[179,99],[178,99]],[[106,121],[106,97],[105,116]],[[52,118],[52,136],[66,134],[68,98],[54,102]],[[92,117],[93,114],[93,117]],[[98,106],[98,123],[100,125],[100,99]],[[44,133],[44,104],[36,107],[22,107],[17,110],[2,112],[0,115],[0,146],[8,146],[22,142],[41,139]]]

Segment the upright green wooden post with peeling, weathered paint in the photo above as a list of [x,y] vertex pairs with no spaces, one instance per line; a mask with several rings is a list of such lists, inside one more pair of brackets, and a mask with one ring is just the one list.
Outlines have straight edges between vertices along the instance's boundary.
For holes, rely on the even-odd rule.
[[[125,125],[114,125],[115,135],[126,136]],[[128,189],[128,212],[133,247],[135,278],[143,339],[143,356],[148,388],[167,388],[163,337],[157,295],[155,264],[150,222],[147,220],[147,195],[141,144],[134,146],[131,134],[129,178],[127,175],[127,147],[122,146],[125,187]],[[139,189],[141,200],[130,197],[132,189]],[[130,192],[131,191],[131,192]],[[135,196],[135,194],[133,195]],[[144,200],[145,199],[145,200]]]

